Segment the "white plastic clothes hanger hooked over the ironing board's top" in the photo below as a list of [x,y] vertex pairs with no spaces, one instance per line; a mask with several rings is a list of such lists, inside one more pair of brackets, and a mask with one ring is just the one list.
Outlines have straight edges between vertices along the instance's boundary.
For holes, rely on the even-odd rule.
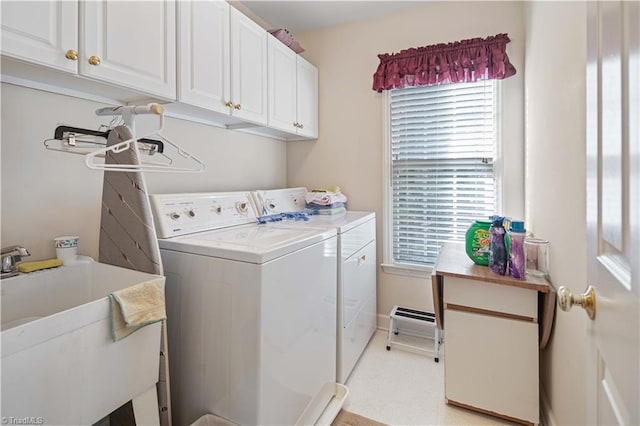
[[164,128],[164,107],[162,107],[162,105],[151,103],[142,106],[106,107],[96,110],[96,115],[121,116],[125,122],[125,125],[127,125],[131,129],[134,135],[135,116],[138,114],[158,115],[158,128],[151,132],[150,135],[145,135],[145,138],[153,136],[154,138],[160,139],[164,143],[164,148],[166,148],[167,146],[171,146],[180,157],[192,163],[193,167],[178,167],[174,166],[173,164],[164,164],[159,162],[144,162],[140,164],[107,164],[95,161],[95,158],[106,156],[109,152],[117,154],[126,151],[127,149],[136,149],[138,147],[138,144],[136,142],[137,139],[135,136],[117,144],[89,152],[85,155],[85,164],[87,165],[87,167],[94,170],[160,173],[200,173],[204,170],[204,163],[202,161],[200,161],[194,155],[188,153],[176,143],[171,142],[167,137],[160,134],[160,131]]

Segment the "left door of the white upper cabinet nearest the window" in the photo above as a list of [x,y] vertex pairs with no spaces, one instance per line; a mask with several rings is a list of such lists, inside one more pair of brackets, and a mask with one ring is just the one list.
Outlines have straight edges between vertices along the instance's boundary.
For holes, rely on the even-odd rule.
[[269,127],[296,133],[296,53],[275,37],[268,38]]

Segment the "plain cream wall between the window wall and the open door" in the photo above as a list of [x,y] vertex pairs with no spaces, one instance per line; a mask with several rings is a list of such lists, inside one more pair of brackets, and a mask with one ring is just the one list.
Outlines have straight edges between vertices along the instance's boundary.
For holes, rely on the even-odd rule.
[[[526,210],[529,229],[550,242],[551,282],[574,294],[586,276],[586,5],[527,5]],[[541,354],[543,392],[551,422],[586,422],[587,316],[556,312]]]

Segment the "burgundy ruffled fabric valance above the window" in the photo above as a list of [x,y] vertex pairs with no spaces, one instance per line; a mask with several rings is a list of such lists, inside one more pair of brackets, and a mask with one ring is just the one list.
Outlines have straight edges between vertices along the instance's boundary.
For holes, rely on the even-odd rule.
[[509,41],[498,34],[380,54],[373,90],[511,77],[516,69],[507,56]]

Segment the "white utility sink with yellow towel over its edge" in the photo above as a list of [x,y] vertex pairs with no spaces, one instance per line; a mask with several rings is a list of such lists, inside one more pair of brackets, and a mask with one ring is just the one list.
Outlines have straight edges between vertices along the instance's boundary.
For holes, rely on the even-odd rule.
[[2,279],[3,419],[90,425],[129,400],[149,411],[161,325],[113,342],[108,295],[164,279],[94,261]]

